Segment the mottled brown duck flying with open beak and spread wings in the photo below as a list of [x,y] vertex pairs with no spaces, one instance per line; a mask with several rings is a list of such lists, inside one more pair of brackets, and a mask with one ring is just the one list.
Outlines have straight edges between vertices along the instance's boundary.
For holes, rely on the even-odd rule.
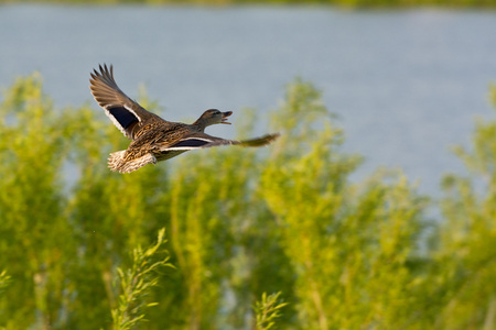
[[157,164],[187,151],[220,145],[259,147],[272,143],[279,133],[250,140],[228,140],[205,133],[213,124],[230,124],[233,111],[208,109],[192,124],[172,122],[145,110],[129,98],[114,79],[114,66],[99,65],[90,73],[89,89],[105,114],[125,136],[131,140],[127,150],[110,153],[112,172],[131,173],[148,164]]

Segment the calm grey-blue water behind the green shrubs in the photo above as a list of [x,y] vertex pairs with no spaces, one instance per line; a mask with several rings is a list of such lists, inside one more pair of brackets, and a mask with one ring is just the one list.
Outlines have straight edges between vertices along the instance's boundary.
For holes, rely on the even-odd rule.
[[463,168],[450,146],[493,116],[495,32],[495,13],[432,9],[1,6],[0,86],[39,70],[58,107],[99,111],[89,72],[111,63],[120,87],[136,97],[144,84],[169,120],[218,108],[236,121],[250,107],[266,122],[300,76],[338,114],[345,151],[366,156],[357,178],[400,167],[436,195],[442,174]]

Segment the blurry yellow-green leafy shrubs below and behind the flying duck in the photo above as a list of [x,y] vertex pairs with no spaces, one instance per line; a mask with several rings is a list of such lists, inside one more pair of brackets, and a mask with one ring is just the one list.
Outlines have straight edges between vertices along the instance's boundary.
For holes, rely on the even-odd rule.
[[352,183],[363,160],[311,84],[271,119],[268,148],[120,175],[106,158],[128,141],[101,111],[19,78],[0,105],[0,329],[496,327],[496,121],[434,201],[398,172]]

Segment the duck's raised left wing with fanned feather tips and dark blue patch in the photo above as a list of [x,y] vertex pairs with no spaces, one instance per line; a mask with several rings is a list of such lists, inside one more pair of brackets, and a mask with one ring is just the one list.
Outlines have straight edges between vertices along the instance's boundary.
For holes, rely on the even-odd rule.
[[150,119],[162,120],[157,114],[143,109],[120,90],[114,79],[111,65],[110,69],[106,64],[100,65],[99,72],[95,69],[90,76],[89,89],[95,100],[104,108],[112,123],[129,139],[134,138],[134,133],[139,130],[141,123]]

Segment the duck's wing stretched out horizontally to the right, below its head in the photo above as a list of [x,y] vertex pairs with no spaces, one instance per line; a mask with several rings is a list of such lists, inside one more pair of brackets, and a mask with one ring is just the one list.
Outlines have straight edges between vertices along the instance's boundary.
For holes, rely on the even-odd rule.
[[212,136],[205,133],[193,133],[179,139],[177,141],[158,143],[161,152],[166,151],[188,151],[195,148],[213,147],[218,145],[241,145],[241,146],[262,146],[274,141],[279,134],[267,134],[261,138],[250,140],[227,140]]

